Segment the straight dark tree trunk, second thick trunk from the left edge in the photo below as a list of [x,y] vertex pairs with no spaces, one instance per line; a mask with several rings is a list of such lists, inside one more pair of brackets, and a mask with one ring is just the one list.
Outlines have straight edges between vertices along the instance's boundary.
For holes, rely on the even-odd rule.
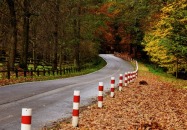
[[28,46],[29,46],[29,19],[30,19],[30,0],[24,0],[24,18],[23,18],[23,45],[22,45],[22,55],[20,61],[20,67],[22,69],[27,69],[27,58],[28,58]]

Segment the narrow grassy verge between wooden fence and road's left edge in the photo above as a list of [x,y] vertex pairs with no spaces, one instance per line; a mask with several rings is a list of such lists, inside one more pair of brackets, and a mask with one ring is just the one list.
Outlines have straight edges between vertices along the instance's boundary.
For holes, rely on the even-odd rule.
[[11,78],[11,79],[1,79],[0,87],[4,85],[9,84],[15,84],[15,83],[22,83],[22,82],[32,82],[32,81],[43,81],[43,80],[54,80],[54,79],[60,79],[60,78],[68,78],[68,77],[74,77],[79,75],[85,75],[88,73],[95,72],[101,68],[103,68],[106,65],[106,61],[103,60],[101,57],[99,57],[95,62],[89,63],[89,67],[85,70],[82,70],[80,72],[74,72],[74,73],[67,73],[63,75],[50,75],[50,76],[27,76],[27,77],[19,77],[19,78]]

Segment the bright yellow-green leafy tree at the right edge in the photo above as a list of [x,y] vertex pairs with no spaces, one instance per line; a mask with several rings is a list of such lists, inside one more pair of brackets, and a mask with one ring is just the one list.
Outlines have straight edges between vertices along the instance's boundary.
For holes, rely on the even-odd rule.
[[[166,67],[168,72],[176,73],[176,77],[179,70],[187,69],[186,7],[185,0],[165,6],[160,20],[144,38],[145,50],[151,56],[151,60]],[[156,47],[157,51],[153,51]]]

